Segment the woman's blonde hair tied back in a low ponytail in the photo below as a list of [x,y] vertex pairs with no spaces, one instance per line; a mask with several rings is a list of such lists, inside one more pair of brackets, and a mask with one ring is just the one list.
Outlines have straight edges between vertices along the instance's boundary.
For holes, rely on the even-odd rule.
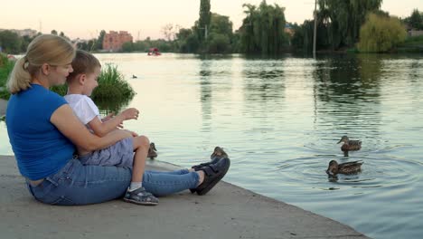
[[16,61],[7,81],[7,90],[12,94],[30,87],[31,80],[40,72],[43,63],[65,65],[75,57],[75,48],[66,39],[43,34],[28,45],[24,57]]

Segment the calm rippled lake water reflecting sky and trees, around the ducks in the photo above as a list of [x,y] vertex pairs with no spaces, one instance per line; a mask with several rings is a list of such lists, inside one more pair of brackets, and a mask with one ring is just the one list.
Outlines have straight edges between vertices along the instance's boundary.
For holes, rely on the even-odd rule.
[[[421,238],[423,56],[99,54],[137,92],[125,123],[184,167],[227,150],[224,180],[324,215],[373,238]],[[136,79],[132,79],[136,75]],[[343,155],[343,135],[362,149]],[[0,154],[13,154],[0,123]],[[362,173],[328,178],[330,160]]]

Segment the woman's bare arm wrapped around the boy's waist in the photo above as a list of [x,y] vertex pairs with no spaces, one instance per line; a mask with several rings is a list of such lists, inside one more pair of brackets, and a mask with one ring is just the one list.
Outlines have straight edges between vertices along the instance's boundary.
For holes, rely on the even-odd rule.
[[91,134],[80,122],[80,119],[75,116],[68,104],[64,104],[55,110],[50,121],[77,147],[88,151],[107,148],[121,139],[132,137],[126,130],[114,130],[102,138]]

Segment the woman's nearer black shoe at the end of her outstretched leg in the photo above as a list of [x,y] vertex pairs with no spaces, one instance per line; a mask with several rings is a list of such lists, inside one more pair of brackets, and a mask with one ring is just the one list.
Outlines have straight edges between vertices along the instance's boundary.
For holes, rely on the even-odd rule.
[[207,194],[213,186],[221,181],[221,178],[228,172],[229,167],[229,158],[220,158],[216,164],[202,167],[202,171],[204,171],[204,181],[202,181],[200,186],[194,189],[195,192],[200,196]]

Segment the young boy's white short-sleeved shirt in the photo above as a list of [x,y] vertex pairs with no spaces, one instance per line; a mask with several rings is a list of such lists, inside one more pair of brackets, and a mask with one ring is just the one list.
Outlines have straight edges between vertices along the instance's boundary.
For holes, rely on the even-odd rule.
[[87,127],[88,123],[95,117],[101,120],[99,117],[99,108],[88,96],[82,94],[69,94],[65,95],[64,99],[68,101],[75,115],[78,116],[80,121],[84,125],[87,125]]

